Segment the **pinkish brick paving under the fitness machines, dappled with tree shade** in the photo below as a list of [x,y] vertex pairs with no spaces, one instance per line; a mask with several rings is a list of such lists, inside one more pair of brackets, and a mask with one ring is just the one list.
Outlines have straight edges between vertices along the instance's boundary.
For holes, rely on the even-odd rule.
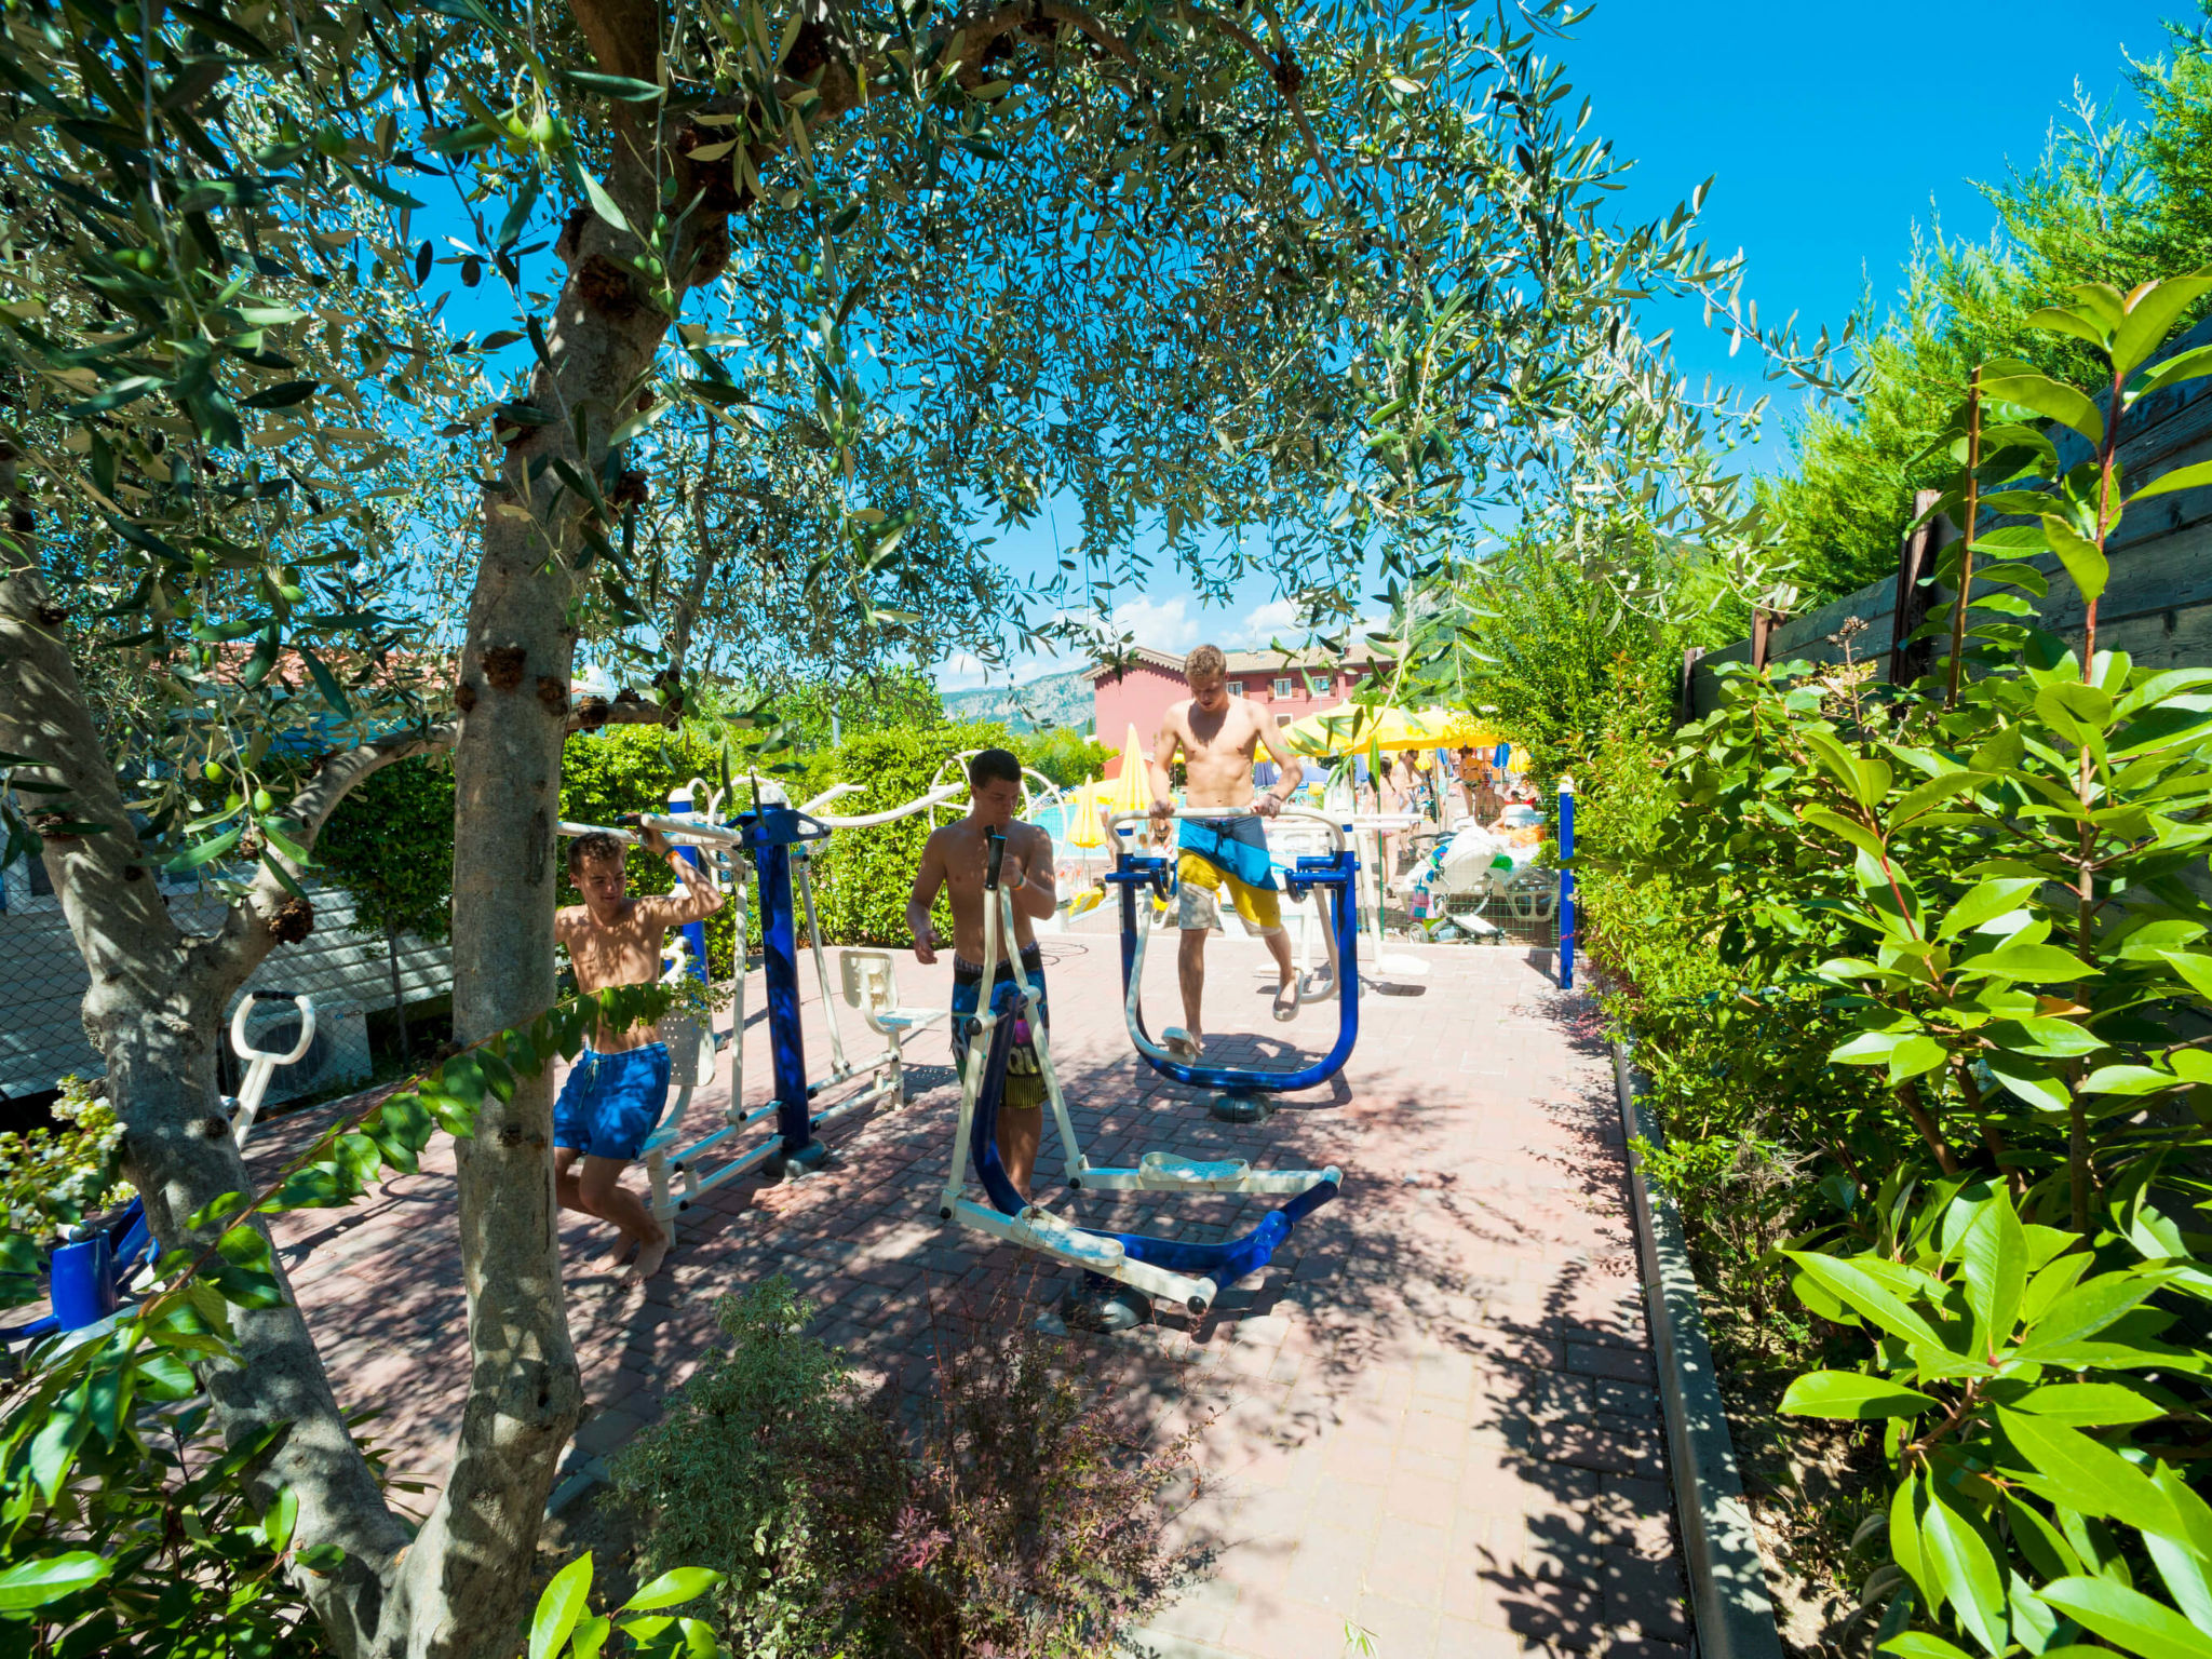
[[[1422,951],[1429,973],[1409,993],[1363,998],[1360,1042],[1334,1086],[1230,1128],[1133,1055],[1110,936],[1044,949],[1055,1055],[1093,1161],[1159,1146],[1345,1170],[1343,1197],[1194,1329],[1172,1310],[1130,1336],[1073,1338],[1093,1349],[1086,1369],[1128,1385],[1161,1429],[1206,1425],[1201,1491],[1175,1526],[1210,1568],[1148,1646],[1161,1659],[1338,1659],[1365,1641],[1378,1659],[1425,1659],[1626,1644],[1666,1659],[1668,1644],[1688,1644],[1619,1117],[1588,1002],[1515,951]],[[1294,1026],[1265,1018],[1256,942],[1217,938],[1212,958],[1210,1024],[1254,1033],[1230,1053],[1287,1064],[1285,1035],[1318,1048],[1334,1033],[1334,1006]],[[1155,1029],[1175,1020],[1172,973],[1172,951],[1155,951]],[[900,980],[907,1002],[945,1004],[945,969],[909,960]],[[759,1015],[757,978],[748,1006]],[[807,1053],[823,1066],[818,1020],[810,1000]],[[834,1126],[830,1175],[712,1192],[646,1290],[597,1272],[595,1223],[564,1232],[595,1405],[573,1460],[653,1420],[712,1340],[714,1298],[772,1272],[876,1376],[922,1349],[925,1290],[1060,1292],[1064,1276],[1035,1274],[1033,1256],[938,1223],[953,1104],[940,1031],[916,1057],[905,1110]],[[745,1064],[759,1102],[759,1018]],[[719,1108],[719,1093],[701,1093],[692,1121],[710,1126]],[[257,1164],[307,1126],[272,1124]],[[1040,1172],[1053,1170],[1046,1135]],[[1179,1237],[1243,1230],[1272,1208],[1064,1197],[1055,1208],[1086,1223]],[[465,1378],[449,1155],[352,1210],[283,1219],[279,1243],[341,1398],[385,1407],[374,1433],[396,1469],[438,1469]]]

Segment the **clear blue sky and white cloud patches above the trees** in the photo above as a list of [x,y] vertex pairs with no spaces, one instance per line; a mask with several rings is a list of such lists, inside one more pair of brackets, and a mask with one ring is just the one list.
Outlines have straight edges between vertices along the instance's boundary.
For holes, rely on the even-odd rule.
[[[1820,323],[1838,330],[1869,285],[1887,301],[1916,223],[1986,237],[1993,215],[1973,181],[2035,166],[2077,82],[2132,115],[2126,58],[2159,55],[2161,20],[2194,15],[2194,0],[1610,0],[1555,55],[1595,100],[1590,126],[1637,159],[1617,197],[1624,217],[1659,217],[1714,177],[1705,239],[1721,254],[1745,252],[1745,294],[1763,323],[1796,312],[1809,338]],[[1739,462],[1787,465],[1796,398],[1765,387],[1747,349],[1730,358],[1728,341],[1701,330],[1699,307],[1659,316],[1677,327],[1677,361],[1694,380],[1776,392],[1763,442]],[[1018,573],[1044,571],[1055,544],[1035,526],[1004,535],[998,553]],[[1201,611],[1166,566],[1121,619],[1161,650],[1201,637],[1265,644],[1292,628],[1290,606],[1263,586],[1241,593],[1234,611]],[[1068,666],[1018,661],[991,681]],[[984,675],[953,659],[938,684],[980,686]]]

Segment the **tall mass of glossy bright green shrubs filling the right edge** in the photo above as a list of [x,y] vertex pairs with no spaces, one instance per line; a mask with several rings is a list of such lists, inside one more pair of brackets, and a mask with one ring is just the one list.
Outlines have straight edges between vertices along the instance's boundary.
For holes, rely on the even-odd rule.
[[[2205,292],[2212,272],[2084,285],[2037,314],[2101,354],[2104,407],[2022,365],[1975,372],[1947,436],[1966,533],[1940,571],[1960,597],[1929,628],[1951,646],[1936,675],[1849,708],[1736,686],[1776,721],[1776,841],[1849,860],[1823,916],[1851,953],[1805,967],[1845,1024],[1832,1060],[1878,1068],[1909,1135],[1847,1206],[1865,1248],[1785,1252],[1805,1305],[1863,1325],[1874,1354],[1783,1400],[1887,1425],[1889,1548],[1913,1595],[1882,1637],[1907,1659],[1953,1659],[1953,1635],[2212,1659],[2212,1506],[2192,1482],[2212,1358],[2181,1327],[2212,1301],[2185,1225],[2212,1139],[2212,907],[2192,883],[2212,668],[2097,646],[2124,509],[2212,482],[2199,462],[2130,493],[2119,462],[2130,409],[2212,374],[2212,347],[2157,356]],[[2062,469],[2020,409],[2070,427],[2086,460]],[[2015,522],[1984,531],[1991,513]],[[1991,551],[2004,562],[1978,568]],[[2031,553],[2070,577],[2077,641],[2033,626]]]

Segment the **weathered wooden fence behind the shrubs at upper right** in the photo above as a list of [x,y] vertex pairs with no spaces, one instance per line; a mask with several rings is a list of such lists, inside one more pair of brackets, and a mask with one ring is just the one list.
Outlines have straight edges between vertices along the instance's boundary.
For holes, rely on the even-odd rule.
[[[2212,321],[2190,330],[2177,341],[2174,352],[2197,345],[2212,345]],[[2099,407],[2104,407],[2101,398]],[[2090,447],[2066,427],[2051,427],[2051,434],[2057,440],[2062,467],[2093,458]],[[2208,456],[2212,456],[2212,378],[2159,392],[2124,418],[2119,462],[2128,489]],[[1871,582],[1803,617],[1770,619],[1761,615],[1754,622],[1752,639],[1739,639],[1703,655],[1692,653],[1692,659],[1683,664],[1686,712],[1712,712],[1719,701],[1712,670],[1723,661],[1838,664],[1849,650],[1854,661],[1871,657],[1880,679],[1913,679],[1924,672],[1929,659],[1924,648],[1920,668],[1911,661],[1896,664],[1896,650],[1920,617],[1949,602],[1944,591],[1920,586],[1916,580],[1931,568],[1936,549],[1949,533],[1951,526],[1940,524],[1933,535],[1905,538],[1896,577]],[[2146,668],[2212,664],[2212,487],[2183,489],[2143,502],[2128,513],[2106,553],[2112,577],[2097,606],[2097,646],[2126,650],[2137,666]],[[2062,635],[2079,633],[2081,595],[2059,562],[2039,553],[2026,564],[2037,566],[2051,580],[2051,593],[2037,606],[2039,624]],[[1907,595],[1902,628],[1898,626],[1900,595]],[[1918,615],[1913,615],[1916,611]],[[1845,624],[1854,617],[1865,626],[1847,635]],[[1902,672],[1893,672],[1893,668],[1902,668]]]

